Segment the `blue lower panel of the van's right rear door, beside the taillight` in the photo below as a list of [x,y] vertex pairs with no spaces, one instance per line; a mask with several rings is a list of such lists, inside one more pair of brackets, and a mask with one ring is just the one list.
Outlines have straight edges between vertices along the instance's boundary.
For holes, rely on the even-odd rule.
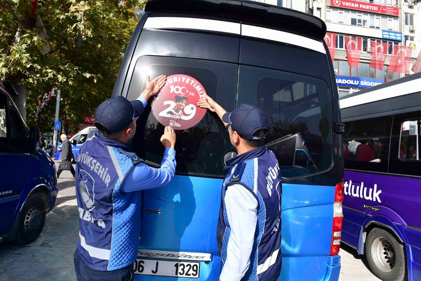
[[334,192],[335,188],[330,186],[282,185],[280,280],[324,280],[332,232]]

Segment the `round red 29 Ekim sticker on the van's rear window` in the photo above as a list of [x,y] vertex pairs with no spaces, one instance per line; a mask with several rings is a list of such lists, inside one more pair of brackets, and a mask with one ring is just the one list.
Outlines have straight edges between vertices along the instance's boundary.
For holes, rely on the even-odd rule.
[[205,116],[206,109],[196,104],[206,94],[199,81],[184,74],[167,77],[165,86],[152,102],[152,112],[158,122],[174,130],[195,126]]

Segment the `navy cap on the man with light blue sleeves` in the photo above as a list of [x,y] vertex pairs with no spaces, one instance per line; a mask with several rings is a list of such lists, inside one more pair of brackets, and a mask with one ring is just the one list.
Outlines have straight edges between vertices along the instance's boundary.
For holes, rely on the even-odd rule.
[[143,103],[140,100],[129,101],[122,95],[106,99],[98,105],[95,111],[95,126],[101,133],[115,134],[129,127],[133,118],[143,113]]

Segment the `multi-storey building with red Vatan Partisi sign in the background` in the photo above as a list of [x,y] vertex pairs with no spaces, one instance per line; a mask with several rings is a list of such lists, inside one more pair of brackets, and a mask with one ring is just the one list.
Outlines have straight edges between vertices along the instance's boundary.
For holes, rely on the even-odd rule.
[[[326,23],[327,34],[331,36],[328,40],[334,41],[330,50],[334,52],[333,68],[340,96],[414,73],[411,69],[421,50],[420,3],[414,4],[412,0],[260,2],[312,13]],[[372,55],[378,56],[371,46],[376,46],[378,51],[378,45],[384,47],[385,60],[381,66],[371,59]],[[347,46],[358,50],[359,62],[350,62]],[[407,54],[407,63],[406,67],[396,71],[397,61],[394,57],[402,55],[401,48]],[[401,62],[399,58],[398,62]]]

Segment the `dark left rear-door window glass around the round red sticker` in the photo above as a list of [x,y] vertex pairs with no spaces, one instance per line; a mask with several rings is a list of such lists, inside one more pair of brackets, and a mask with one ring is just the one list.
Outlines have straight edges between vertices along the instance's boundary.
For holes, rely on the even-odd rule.
[[[146,73],[151,79],[159,74],[191,76],[199,81],[206,93],[224,108],[234,109],[237,86],[236,64],[174,57],[141,57],[136,63],[130,82],[127,96],[129,100],[139,96],[140,89],[144,88]],[[159,141],[163,133],[163,125],[157,121],[149,106],[137,122],[138,126],[143,126],[139,125],[142,122],[146,123],[146,126],[145,131],[137,131],[133,139],[136,152],[149,164],[159,166],[164,150]],[[223,177],[222,157],[226,151],[232,149],[232,146],[216,114],[207,111],[197,125],[185,130],[176,130],[176,135],[176,172]]]

